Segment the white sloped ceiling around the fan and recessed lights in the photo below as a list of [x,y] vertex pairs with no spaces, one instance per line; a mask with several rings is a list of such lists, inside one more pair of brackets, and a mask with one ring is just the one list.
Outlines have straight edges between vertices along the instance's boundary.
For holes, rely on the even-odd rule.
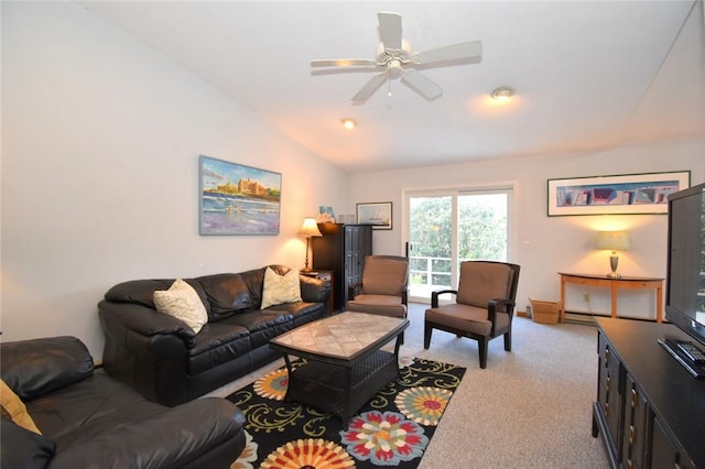
[[[358,172],[595,152],[705,135],[702,3],[669,1],[83,2],[273,128]],[[480,40],[478,64],[399,79],[364,106],[373,73],[313,74],[315,58],[373,58],[377,13],[402,15],[414,51]],[[503,106],[498,86],[517,89]],[[340,119],[358,128],[345,131]]]

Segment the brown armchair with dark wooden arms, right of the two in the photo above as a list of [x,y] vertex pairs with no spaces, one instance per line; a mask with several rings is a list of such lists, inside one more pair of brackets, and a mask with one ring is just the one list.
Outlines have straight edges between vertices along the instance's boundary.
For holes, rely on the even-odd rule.
[[[424,349],[431,346],[433,329],[441,329],[477,340],[480,368],[487,368],[487,346],[491,339],[505,336],[505,350],[511,351],[519,270],[519,265],[505,262],[463,262],[458,290],[431,294],[424,320]],[[456,303],[438,305],[438,296],[448,293],[456,295]]]

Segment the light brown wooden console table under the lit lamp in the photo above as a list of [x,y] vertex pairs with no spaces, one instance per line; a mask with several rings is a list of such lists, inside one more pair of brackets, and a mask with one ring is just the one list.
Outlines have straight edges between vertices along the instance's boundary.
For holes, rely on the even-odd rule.
[[604,286],[610,290],[611,316],[617,317],[617,291],[622,290],[655,290],[657,291],[657,323],[663,321],[663,279],[647,276],[621,276],[610,279],[606,275],[563,273],[561,275],[561,312],[558,320],[565,318],[565,284],[575,283],[587,286]]

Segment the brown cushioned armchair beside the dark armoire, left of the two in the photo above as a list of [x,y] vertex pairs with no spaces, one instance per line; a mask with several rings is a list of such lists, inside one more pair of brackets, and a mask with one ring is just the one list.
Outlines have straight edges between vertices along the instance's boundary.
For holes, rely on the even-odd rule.
[[406,317],[409,261],[399,255],[365,258],[362,282],[351,285],[347,310]]

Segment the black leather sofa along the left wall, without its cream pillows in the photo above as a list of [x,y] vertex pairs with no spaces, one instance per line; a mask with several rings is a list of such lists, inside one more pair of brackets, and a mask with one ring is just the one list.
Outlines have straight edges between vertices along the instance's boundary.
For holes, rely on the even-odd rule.
[[[269,268],[280,275],[290,272],[284,265]],[[106,371],[151,401],[176,405],[276,360],[281,356],[269,340],[326,316],[330,286],[299,275],[301,302],[260,309],[265,270],[183,279],[208,315],[197,334],[155,309],[154,291],[169,288],[173,279],[113,286],[98,304]]]

